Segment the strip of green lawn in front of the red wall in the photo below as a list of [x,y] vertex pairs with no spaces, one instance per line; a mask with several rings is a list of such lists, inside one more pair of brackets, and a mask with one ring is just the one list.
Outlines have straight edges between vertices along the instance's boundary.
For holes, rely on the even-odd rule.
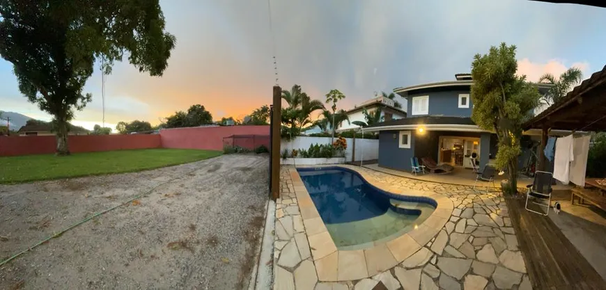
[[0,184],[133,172],[208,159],[221,151],[143,149],[75,153],[71,156],[0,157]]

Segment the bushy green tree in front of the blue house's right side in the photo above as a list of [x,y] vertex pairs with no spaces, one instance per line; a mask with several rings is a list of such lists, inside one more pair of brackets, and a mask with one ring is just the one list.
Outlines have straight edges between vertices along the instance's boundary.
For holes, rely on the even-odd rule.
[[541,95],[538,88],[517,76],[515,46],[502,43],[488,54],[474,56],[472,63],[472,120],[499,140],[496,166],[508,173],[507,191],[517,191],[518,156],[521,154],[522,124],[531,118]]

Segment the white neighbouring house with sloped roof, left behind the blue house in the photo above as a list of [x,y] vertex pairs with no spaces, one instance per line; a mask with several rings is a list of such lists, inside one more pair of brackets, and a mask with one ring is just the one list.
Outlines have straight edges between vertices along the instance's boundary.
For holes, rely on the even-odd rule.
[[345,121],[341,123],[341,126],[339,126],[336,131],[347,131],[350,129],[359,128],[359,126],[353,124],[353,122],[366,122],[363,113],[364,109],[366,109],[368,113],[372,113],[377,108],[381,108],[381,116],[385,122],[406,118],[406,111],[403,108],[396,108],[394,106],[393,99],[389,99],[387,97],[374,97],[373,99],[369,99],[368,101],[363,102],[362,104],[358,104],[354,106],[354,108],[352,108],[351,110],[347,111],[349,122]]

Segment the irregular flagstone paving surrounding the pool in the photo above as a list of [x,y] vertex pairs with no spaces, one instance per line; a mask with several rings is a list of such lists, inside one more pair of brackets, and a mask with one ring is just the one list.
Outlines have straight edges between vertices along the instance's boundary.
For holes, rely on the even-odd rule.
[[[344,167],[371,176],[371,180],[366,180],[371,184],[447,196],[454,205],[449,222],[394,267],[391,267],[394,257],[387,249],[389,243],[387,247],[345,252],[348,257],[338,257],[343,251],[336,249],[310,248],[308,235],[313,235],[314,245],[332,238],[323,229],[320,217],[300,211],[299,203],[311,200],[297,200],[292,166],[282,166],[274,235],[274,289],[531,289],[500,193],[396,177],[368,168]],[[334,265],[338,265],[338,271]],[[370,277],[348,280],[362,274]]]

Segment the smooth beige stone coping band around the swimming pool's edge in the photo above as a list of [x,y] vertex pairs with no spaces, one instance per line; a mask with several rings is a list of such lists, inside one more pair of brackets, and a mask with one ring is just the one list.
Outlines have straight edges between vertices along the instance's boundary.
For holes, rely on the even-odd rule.
[[[423,221],[423,223],[418,225],[416,229],[412,229],[412,231],[402,234],[396,239],[380,242],[371,248],[339,250],[336,248],[332,237],[328,233],[322,218],[320,218],[320,214],[318,213],[315,204],[313,204],[311,196],[305,188],[299,172],[297,172],[297,168],[323,167],[341,167],[353,170],[364,179],[364,182],[368,182],[368,184],[388,193],[431,198],[437,203],[436,209]],[[311,249],[311,257],[316,265],[316,274],[318,275],[318,280],[322,282],[360,280],[393,268],[420,250],[426,243],[433,239],[434,236],[437,236],[437,234],[440,233],[440,230],[442,230],[442,227],[448,222],[454,209],[452,200],[444,195],[433,191],[419,191],[412,188],[404,189],[389,186],[375,179],[375,177],[368,175],[368,173],[358,170],[356,166],[339,164],[323,166],[290,166],[288,172],[290,174],[290,179],[293,182],[293,188],[295,189],[297,206],[300,209],[305,234]],[[369,257],[371,259],[368,259]],[[383,259],[386,257],[387,259]],[[392,259],[389,259],[389,257]],[[369,271],[369,260],[372,261],[372,263],[370,263],[372,266],[370,269],[371,271]],[[364,267],[359,267],[359,265],[364,265]],[[341,267],[347,268],[347,271],[343,271],[343,274],[340,275],[339,268]]]

